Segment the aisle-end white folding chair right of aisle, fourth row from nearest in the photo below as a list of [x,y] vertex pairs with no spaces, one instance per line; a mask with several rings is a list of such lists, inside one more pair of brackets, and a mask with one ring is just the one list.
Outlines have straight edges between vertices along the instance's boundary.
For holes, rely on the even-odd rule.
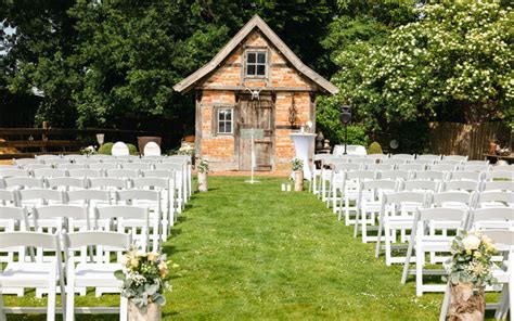
[[369,231],[376,231],[377,229],[376,218],[378,218],[382,209],[383,194],[398,192],[398,181],[394,180],[368,180],[360,182],[354,237],[357,237],[360,224],[362,243],[376,241],[376,236],[369,235]]

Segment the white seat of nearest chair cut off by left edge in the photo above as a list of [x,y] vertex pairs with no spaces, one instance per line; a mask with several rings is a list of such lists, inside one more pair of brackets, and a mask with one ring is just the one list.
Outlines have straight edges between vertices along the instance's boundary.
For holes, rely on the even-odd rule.
[[[0,283],[3,287],[23,287],[25,285],[44,287],[48,285],[51,262],[10,262],[2,271]],[[59,273],[55,272],[55,280]]]

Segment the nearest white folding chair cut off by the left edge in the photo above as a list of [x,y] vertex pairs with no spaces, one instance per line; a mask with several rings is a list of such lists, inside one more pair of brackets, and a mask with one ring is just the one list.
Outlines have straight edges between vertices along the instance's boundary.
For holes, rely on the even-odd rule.
[[[46,313],[49,321],[55,320],[57,286],[61,290],[61,301],[66,301],[61,240],[57,235],[38,232],[0,233],[0,248],[13,246],[52,249],[55,255],[48,257],[48,261],[26,261],[24,257],[18,257],[17,261],[8,264],[4,269],[0,265],[0,294],[12,288],[44,288],[48,293],[48,303],[47,308],[4,307],[2,295],[0,295],[0,317],[5,320],[5,313],[39,312]],[[65,304],[62,305],[61,312],[67,317]]]

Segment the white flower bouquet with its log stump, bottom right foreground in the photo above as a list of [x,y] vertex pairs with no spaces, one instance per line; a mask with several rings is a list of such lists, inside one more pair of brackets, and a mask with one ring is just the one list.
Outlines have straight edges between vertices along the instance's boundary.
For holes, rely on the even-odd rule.
[[479,233],[458,235],[451,244],[452,257],[446,262],[450,283],[450,320],[484,320],[484,288],[492,278],[492,255],[497,248],[491,239]]

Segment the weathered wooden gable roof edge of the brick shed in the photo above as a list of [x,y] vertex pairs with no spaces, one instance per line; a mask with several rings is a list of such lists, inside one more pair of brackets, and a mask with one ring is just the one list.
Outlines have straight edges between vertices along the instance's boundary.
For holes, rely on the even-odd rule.
[[232,53],[237,46],[254,30],[258,28],[268,39],[273,43],[274,47],[285,56],[285,59],[296,68],[299,73],[304,74],[311,81],[317,84],[323,90],[335,94],[339,91],[337,87],[332,85],[329,80],[321,77],[314,70],[305,65],[298,56],[277,36],[277,34],[265,23],[265,21],[257,14],[252,17],[249,22],[244,25],[243,28],[213,57],[206,65],[184,78],[182,81],[174,86],[174,89],[178,92],[187,92],[202,78],[207,76],[209,73],[215,70],[229,54]]

